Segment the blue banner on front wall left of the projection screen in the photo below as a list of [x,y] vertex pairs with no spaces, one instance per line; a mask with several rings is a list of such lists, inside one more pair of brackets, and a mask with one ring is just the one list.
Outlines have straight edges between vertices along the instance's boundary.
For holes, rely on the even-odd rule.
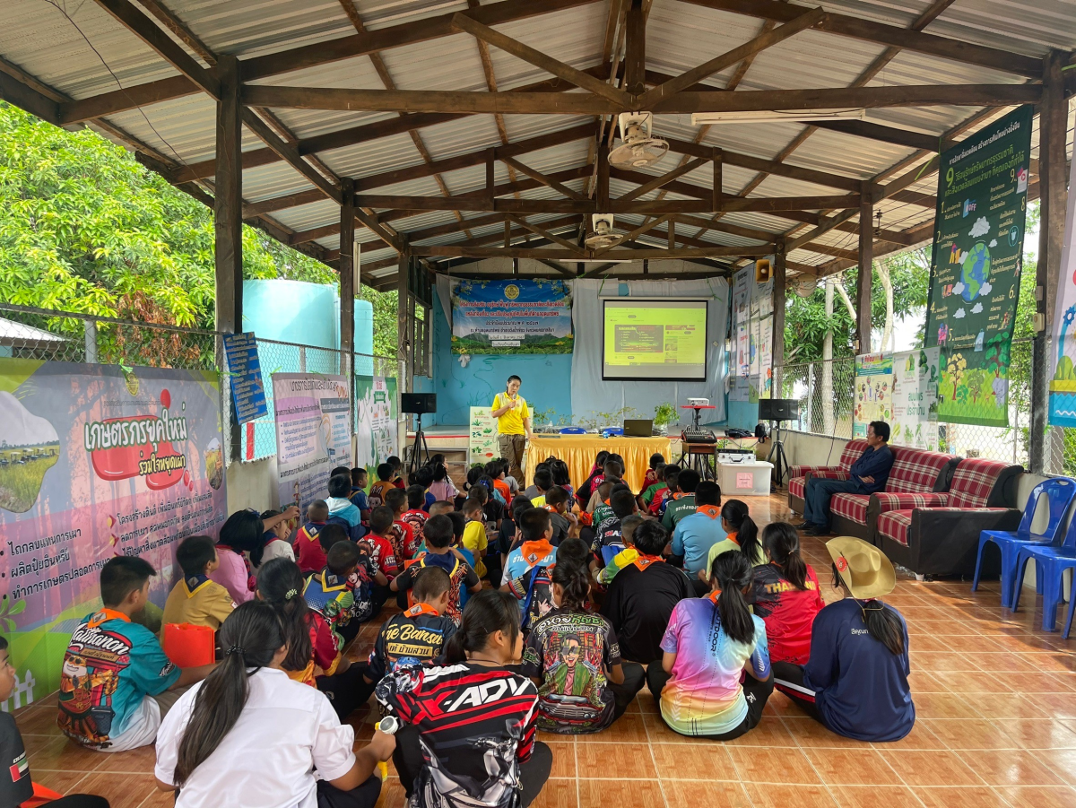
[[457,280],[452,284],[452,353],[570,354],[567,281]]

